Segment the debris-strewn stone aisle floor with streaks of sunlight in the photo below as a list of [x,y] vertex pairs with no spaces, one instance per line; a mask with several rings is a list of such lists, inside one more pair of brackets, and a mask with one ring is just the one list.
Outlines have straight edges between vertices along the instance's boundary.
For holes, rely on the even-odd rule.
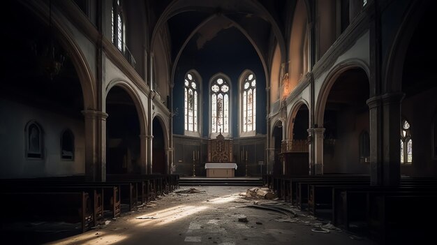
[[89,232],[47,244],[375,244],[283,202],[248,198],[249,188],[181,186]]

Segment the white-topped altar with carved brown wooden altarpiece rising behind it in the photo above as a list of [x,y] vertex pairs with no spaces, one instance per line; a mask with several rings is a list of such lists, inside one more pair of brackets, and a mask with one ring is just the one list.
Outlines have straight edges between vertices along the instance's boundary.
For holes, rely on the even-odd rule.
[[208,141],[207,177],[235,177],[237,164],[232,161],[232,139],[225,139],[220,132],[215,139]]

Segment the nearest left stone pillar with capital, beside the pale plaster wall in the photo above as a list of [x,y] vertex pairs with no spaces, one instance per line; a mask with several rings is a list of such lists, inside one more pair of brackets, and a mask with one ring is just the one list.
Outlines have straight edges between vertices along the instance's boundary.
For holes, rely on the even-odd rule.
[[85,117],[85,177],[106,181],[106,118],[96,110],[82,110]]

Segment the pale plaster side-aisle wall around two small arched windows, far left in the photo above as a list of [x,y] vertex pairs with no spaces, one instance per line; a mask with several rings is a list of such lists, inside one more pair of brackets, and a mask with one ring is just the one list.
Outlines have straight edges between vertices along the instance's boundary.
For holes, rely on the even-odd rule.
[[[0,98],[0,178],[84,174],[84,121]],[[43,159],[25,154],[25,128],[35,120],[43,130]],[[73,161],[61,159],[61,133],[69,128],[75,138]]]

